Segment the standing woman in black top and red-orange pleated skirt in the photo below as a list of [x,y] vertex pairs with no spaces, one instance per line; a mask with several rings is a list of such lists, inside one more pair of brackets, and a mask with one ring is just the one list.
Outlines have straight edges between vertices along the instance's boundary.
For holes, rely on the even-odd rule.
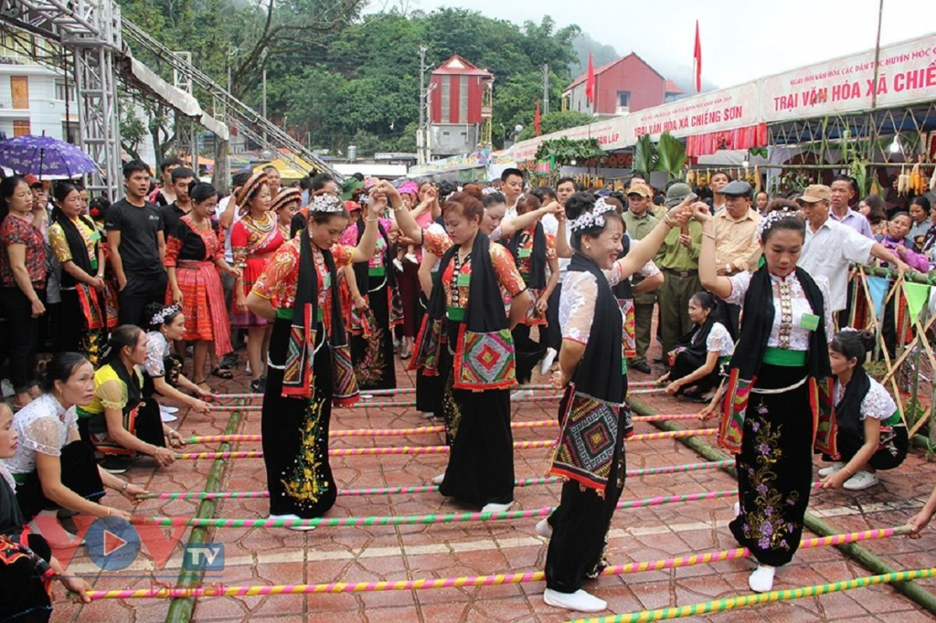
[[[179,219],[166,239],[166,304],[182,305],[185,332],[180,339],[195,342],[192,377],[195,384],[208,391],[205,360],[212,342],[216,357],[234,350],[217,268],[235,279],[241,277],[241,270],[231,268],[225,261],[224,232],[212,221],[218,205],[217,191],[210,183],[192,182],[189,196],[192,210]],[[217,367],[212,369],[212,374],[221,379],[232,378],[230,370]]]

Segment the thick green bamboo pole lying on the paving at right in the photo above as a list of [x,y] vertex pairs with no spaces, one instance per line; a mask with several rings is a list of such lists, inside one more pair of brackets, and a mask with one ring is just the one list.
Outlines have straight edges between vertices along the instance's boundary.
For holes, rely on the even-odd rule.
[[[631,404],[631,409],[633,412],[638,415],[652,415],[655,413],[649,406],[637,398],[628,398],[628,401]],[[660,428],[661,430],[674,430],[680,428],[675,422],[668,421],[651,422],[651,425]],[[731,458],[731,456],[725,455],[721,450],[712,447],[708,443],[702,441],[702,439],[703,438],[701,437],[689,437],[679,438],[679,441],[683,445],[695,450],[695,452],[698,454],[705,456],[705,458],[709,461],[723,461],[725,459]],[[735,476],[736,478],[738,477],[738,472],[735,471],[734,467],[725,467],[722,469],[730,473],[732,476]],[[826,524],[825,521],[810,513],[809,511],[806,512],[803,523],[808,529],[811,529],[819,536],[830,536],[833,534],[838,534],[840,531],[838,529],[832,528],[830,525]],[[884,558],[880,558],[879,556],[870,553],[864,547],[854,543],[836,545],[836,547],[838,547],[846,556],[855,559],[857,562],[859,562],[864,567],[867,567],[872,572],[894,573],[898,571],[887,564]],[[914,582],[901,582],[899,584],[895,584],[894,588],[903,593],[903,595],[906,597],[926,608],[930,613],[936,615],[936,595],[933,595],[926,588],[920,587]]]

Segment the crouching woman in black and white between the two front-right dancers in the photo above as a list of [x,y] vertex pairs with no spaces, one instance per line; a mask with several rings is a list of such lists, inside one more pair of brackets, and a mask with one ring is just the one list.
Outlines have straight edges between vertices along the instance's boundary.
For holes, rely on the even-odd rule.
[[[708,402],[703,395],[719,382],[721,368],[727,366],[735,352],[732,339],[724,323],[719,322],[718,302],[702,290],[689,299],[689,319],[695,328],[677,341],[675,349],[667,353],[670,370],[657,383],[666,384],[666,393]],[[686,387],[695,386],[690,396]]]

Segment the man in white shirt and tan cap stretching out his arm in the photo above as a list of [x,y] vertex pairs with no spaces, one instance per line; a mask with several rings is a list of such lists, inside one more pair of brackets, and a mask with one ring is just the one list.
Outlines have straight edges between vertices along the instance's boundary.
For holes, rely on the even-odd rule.
[[848,225],[842,225],[829,217],[832,190],[828,186],[808,186],[797,203],[806,217],[806,240],[797,266],[812,277],[826,276],[828,304],[832,312],[841,312],[846,307],[850,262],[867,264],[874,256],[896,266],[901,274],[908,268],[903,260],[885,249],[884,245],[865,238]]

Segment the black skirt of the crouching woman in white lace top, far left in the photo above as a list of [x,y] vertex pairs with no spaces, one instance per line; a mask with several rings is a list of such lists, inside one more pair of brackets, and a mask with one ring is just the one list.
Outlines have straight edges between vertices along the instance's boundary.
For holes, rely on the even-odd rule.
[[[59,462],[62,465],[62,485],[85,500],[96,502],[104,497],[104,485],[101,483],[100,471],[97,470],[95,451],[90,444],[81,440],[68,443],[62,448]],[[38,471],[20,478],[22,481],[16,487],[16,500],[27,521],[40,511],[59,508],[42,492]]]

